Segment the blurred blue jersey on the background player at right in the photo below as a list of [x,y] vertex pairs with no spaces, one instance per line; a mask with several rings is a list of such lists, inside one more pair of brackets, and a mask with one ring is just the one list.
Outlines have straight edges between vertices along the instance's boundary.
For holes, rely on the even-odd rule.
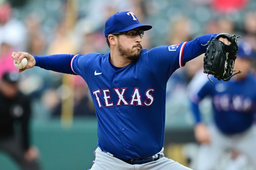
[[[213,121],[224,134],[244,132],[252,126],[256,112],[256,79],[249,74],[241,81],[231,79],[227,82],[214,81],[206,83],[192,92],[192,110],[196,122],[201,122],[198,103],[210,96],[213,106]],[[199,85],[200,86],[200,85]]]

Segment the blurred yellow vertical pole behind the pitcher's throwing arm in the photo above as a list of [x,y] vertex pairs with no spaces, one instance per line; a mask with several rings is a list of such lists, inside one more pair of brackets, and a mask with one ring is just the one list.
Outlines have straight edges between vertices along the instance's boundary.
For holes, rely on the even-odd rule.
[[[66,28],[69,32],[76,24],[78,18],[78,1],[68,0],[66,9]],[[71,128],[74,115],[74,75],[63,74],[62,76],[62,104],[61,104],[61,125]]]

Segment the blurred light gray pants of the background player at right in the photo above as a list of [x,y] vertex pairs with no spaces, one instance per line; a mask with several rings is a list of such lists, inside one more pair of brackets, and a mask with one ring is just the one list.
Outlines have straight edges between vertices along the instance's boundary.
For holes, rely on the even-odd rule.
[[236,150],[247,156],[250,163],[256,167],[256,126],[236,135],[222,134],[214,124],[208,126],[211,135],[210,144],[199,147],[197,170],[213,170],[219,163],[220,156],[228,149]]

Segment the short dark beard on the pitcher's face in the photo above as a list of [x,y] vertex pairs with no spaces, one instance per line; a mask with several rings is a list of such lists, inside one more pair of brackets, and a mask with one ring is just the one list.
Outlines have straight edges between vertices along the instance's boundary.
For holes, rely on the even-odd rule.
[[[138,59],[142,51],[141,48],[140,49],[132,48],[132,50],[126,50],[123,48],[123,46],[121,46],[119,42],[118,42],[117,49],[121,56],[124,56],[128,60],[132,60],[132,61]],[[134,52],[131,52],[131,51],[134,51]]]

